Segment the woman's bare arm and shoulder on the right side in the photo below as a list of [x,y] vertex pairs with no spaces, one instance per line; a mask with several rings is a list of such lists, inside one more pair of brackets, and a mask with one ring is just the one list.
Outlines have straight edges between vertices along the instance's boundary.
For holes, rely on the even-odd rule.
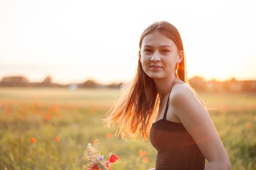
[[231,169],[230,159],[201,101],[186,84],[176,84],[170,106],[208,160],[206,169]]

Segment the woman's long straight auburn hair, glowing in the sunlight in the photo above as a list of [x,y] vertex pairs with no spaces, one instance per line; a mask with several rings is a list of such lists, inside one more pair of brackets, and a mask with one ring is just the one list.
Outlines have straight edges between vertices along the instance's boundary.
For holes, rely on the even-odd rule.
[[[139,49],[142,48],[143,38],[156,30],[165,35],[166,38],[171,39],[179,51],[183,51],[183,60],[176,65],[176,77],[188,84],[186,57],[181,35],[171,23],[166,21],[152,23],[142,33]],[[140,57],[132,83],[123,90],[119,101],[107,113],[105,122],[107,125],[118,123],[117,135],[132,138],[142,136],[146,140],[154,115],[159,107],[159,94],[156,91],[154,79],[147,76],[142,69]]]

